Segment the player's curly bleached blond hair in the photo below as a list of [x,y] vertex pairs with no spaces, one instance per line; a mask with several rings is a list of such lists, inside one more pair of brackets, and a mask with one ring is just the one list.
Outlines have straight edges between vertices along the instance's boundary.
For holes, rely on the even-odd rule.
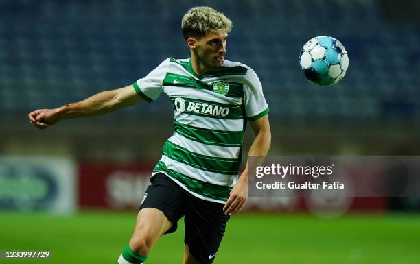
[[184,38],[200,38],[205,34],[218,29],[232,30],[232,21],[213,8],[197,6],[188,10],[181,23]]

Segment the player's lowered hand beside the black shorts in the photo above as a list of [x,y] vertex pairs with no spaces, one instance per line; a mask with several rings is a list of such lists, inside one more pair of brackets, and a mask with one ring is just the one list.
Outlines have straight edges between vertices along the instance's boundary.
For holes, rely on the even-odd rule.
[[240,177],[240,180],[236,182],[229,199],[223,207],[225,215],[239,213],[244,207],[246,200],[248,200],[248,182],[241,179],[244,179],[244,177]]

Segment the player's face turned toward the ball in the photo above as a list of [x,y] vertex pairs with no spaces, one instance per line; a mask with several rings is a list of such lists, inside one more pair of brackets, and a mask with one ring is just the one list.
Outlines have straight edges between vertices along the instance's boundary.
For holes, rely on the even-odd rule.
[[198,60],[209,67],[209,69],[221,67],[224,54],[226,54],[227,37],[226,30],[220,29],[196,39],[196,48],[193,51]]

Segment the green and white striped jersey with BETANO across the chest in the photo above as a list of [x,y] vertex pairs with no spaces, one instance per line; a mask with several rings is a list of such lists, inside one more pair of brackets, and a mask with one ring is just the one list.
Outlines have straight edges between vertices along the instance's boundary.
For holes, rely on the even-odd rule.
[[167,58],[133,86],[146,101],[165,93],[174,106],[174,134],[152,175],[165,173],[192,195],[225,203],[237,181],[246,120],[268,113],[257,74],[224,60],[196,75],[190,59]]

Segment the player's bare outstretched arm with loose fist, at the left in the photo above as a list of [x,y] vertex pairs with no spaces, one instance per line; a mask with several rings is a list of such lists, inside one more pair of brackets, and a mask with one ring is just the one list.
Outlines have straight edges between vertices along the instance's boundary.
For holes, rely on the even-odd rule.
[[97,93],[73,104],[65,104],[54,109],[38,109],[28,115],[30,123],[36,128],[44,129],[58,121],[78,117],[94,117],[113,112],[126,106],[144,101],[132,85],[110,91]]

